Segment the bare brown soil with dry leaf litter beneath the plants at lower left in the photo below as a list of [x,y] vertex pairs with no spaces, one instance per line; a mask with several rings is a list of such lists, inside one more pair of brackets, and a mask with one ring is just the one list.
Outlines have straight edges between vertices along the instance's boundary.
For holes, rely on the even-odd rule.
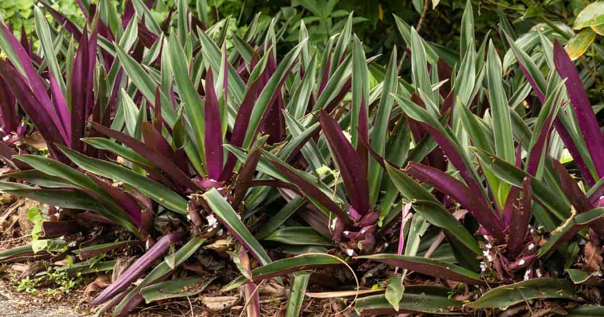
[[[3,194],[0,196],[0,251],[14,248],[17,246],[31,243],[31,226],[33,225],[27,219],[27,210],[37,202],[31,200],[19,199]],[[220,289],[227,280],[232,280],[237,275],[236,269],[225,264],[224,259],[211,257],[210,263],[204,263],[205,267],[211,272],[204,272],[204,275],[219,275],[216,283],[212,283],[204,292],[190,296],[157,301],[152,304],[143,305],[140,309],[131,313],[130,317],[155,317],[155,316],[193,316],[193,317],[214,317],[214,316],[245,316],[244,303],[239,293],[221,293]],[[36,287],[36,292],[26,293],[18,292],[17,276],[24,271],[24,268],[31,267],[31,263],[8,263],[0,264],[0,317],[4,316],[25,316],[25,317],[79,317],[92,316],[95,313],[95,307],[90,307],[89,302],[92,296],[86,295],[86,286],[95,280],[95,274],[87,274],[82,283],[76,289],[63,294],[55,292],[49,295],[49,287]],[[19,269],[20,267],[20,269]],[[201,274],[201,273],[200,273]],[[233,276],[231,276],[233,275]],[[220,281],[219,281],[220,280]],[[284,316],[287,304],[287,296],[284,290],[270,287],[263,287],[260,291],[260,309],[262,316]],[[236,303],[231,303],[223,310],[210,310],[204,304],[204,298],[231,296],[236,298]],[[231,299],[232,300],[232,299]],[[303,304],[302,316],[330,316],[333,312],[344,308],[347,304],[335,303],[330,299],[308,299]],[[110,316],[108,314],[103,315]],[[350,313],[344,313],[340,316],[350,316]]]

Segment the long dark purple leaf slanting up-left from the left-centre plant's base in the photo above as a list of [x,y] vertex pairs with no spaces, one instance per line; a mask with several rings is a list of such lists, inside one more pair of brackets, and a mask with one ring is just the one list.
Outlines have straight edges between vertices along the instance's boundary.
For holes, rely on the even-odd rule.
[[102,124],[92,122],[91,126],[103,135],[108,136],[109,138],[114,138],[117,141],[125,144],[127,147],[130,147],[130,149],[135,150],[135,152],[148,159],[160,170],[164,171],[176,184],[193,191],[199,189],[198,185],[191,181],[187,174],[178,168],[178,166],[176,166],[170,158],[165,157],[161,153],[153,151],[153,149],[143,142],[140,142],[137,139],[132,138],[132,136],[126,135],[119,131],[109,129]]

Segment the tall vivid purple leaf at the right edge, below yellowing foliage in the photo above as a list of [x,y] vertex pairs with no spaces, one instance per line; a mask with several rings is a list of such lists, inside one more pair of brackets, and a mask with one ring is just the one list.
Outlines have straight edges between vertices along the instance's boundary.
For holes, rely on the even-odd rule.
[[604,138],[600,132],[600,125],[573,61],[557,40],[554,40],[554,64],[560,77],[567,79],[565,82],[567,94],[577,117],[577,123],[596,165],[598,176],[602,177],[604,176]]

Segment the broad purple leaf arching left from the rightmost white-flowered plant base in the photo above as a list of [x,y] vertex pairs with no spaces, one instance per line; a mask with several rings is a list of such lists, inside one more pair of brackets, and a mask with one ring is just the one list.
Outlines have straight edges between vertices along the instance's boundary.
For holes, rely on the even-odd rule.
[[409,162],[405,170],[407,175],[419,179],[422,182],[434,186],[437,190],[451,196],[459,202],[461,206],[466,208],[480,225],[484,227],[495,239],[504,241],[503,234],[504,225],[501,220],[493,214],[488,205],[484,205],[479,199],[478,193],[472,191],[471,188],[458,181],[453,176],[448,175],[438,168],[429,167],[427,165]]

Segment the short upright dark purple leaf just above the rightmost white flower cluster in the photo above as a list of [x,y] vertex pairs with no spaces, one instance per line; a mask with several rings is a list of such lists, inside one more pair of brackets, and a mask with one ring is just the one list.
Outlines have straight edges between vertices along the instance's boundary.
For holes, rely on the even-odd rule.
[[508,229],[509,239],[506,246],[508,258],[516,258],[519,252],[522,251],[528,223],[533,215],[531,211],[532,199],[533,191],[530,185],[530,178],[525,177],[522,181],[522,205],[520,207],[513,205],[512,207],[513,216]]

